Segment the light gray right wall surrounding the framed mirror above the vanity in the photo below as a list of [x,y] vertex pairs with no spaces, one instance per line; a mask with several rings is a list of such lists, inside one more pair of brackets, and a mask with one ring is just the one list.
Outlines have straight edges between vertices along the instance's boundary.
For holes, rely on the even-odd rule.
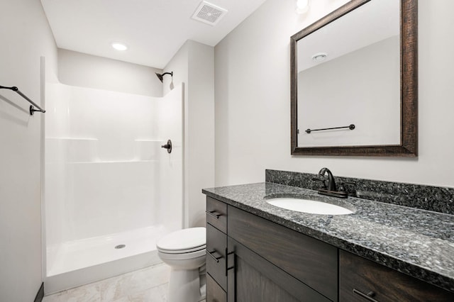
[[419,157],[290,155],[290,36],[346,1],[267,0],[215,47],[216,185],[264,181],[266,168],[454,187],[454,1],[419,0]]

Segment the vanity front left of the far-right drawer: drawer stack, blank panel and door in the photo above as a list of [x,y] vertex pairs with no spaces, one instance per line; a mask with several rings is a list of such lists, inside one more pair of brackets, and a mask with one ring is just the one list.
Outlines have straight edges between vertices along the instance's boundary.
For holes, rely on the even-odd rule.
[[206,212],[207,301],[337,301],[336,247],[210,197]]

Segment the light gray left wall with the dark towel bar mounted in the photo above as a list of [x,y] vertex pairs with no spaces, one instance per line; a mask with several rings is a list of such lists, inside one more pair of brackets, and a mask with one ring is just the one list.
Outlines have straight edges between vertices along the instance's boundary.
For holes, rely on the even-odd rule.
[[[57,47],[40,1],[1,0],[0,85],[40,99],[40,56],[55,81]],[[41,122],[13,91],[0,90],[0,301],[33,301],[41,285]],[[47,113],[45,113],[47,114]]]

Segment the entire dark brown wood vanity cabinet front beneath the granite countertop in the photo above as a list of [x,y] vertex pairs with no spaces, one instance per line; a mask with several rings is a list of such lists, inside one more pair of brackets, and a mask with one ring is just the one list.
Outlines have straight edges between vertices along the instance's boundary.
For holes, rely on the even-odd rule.
[[454,293],[207,197],[208,302],[454,301]]

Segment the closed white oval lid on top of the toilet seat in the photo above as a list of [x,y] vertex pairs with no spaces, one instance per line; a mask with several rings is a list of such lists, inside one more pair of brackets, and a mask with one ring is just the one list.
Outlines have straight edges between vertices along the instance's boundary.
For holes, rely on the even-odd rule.
[[206,244],[206,228],[186,228],[177,230],[157,240],[161,250],[187,250]]

